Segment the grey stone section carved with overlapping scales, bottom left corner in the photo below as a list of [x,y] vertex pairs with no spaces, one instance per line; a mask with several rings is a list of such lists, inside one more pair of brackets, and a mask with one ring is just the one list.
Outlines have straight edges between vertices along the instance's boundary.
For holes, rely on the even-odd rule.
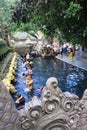
[[0,130],[22,130],[14,101],[3,83],[0,83]]

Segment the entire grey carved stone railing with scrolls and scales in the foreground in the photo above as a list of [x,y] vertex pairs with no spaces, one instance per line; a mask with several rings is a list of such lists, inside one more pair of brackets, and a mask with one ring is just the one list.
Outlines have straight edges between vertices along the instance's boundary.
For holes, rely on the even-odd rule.
[[50,77],[42,97],[34,96],[18,111],[0,83],[0,130],[87,130],[87,90],[79,100],[62,92],[57,79]]

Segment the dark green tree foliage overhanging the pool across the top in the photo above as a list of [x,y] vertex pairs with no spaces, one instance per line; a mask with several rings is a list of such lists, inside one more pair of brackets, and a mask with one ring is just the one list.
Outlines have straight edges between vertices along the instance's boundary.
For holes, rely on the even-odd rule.
[[87,38],[86,0],[20,0],[13,7],[12,21],[33,23],[46,36],[59,37],[73,44]]

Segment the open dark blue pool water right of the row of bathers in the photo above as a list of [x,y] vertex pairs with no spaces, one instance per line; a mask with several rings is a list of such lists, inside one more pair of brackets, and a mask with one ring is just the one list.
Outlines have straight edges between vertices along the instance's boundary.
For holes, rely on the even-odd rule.
[[59,88],[82,97],[87,88],[87,72],[58,59],[34,59],[35,88],[43,86],[49,77],[58,79]]

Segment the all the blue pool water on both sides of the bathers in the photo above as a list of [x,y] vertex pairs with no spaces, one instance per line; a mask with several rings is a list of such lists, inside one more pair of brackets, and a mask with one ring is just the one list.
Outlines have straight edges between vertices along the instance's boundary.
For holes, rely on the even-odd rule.
[[[25,98],[25,103],[30,101],[29,90],[25,84],[25,79],[21,77],[22,72],[26,69],[23,67],[21,58],[18,61],[17,82],[15,84],[18,90],[17,94],[22,94]],[[59,88],[64,91],[76,94],[80,99],[84,90],[87,88],[87,72],[67,64],[58,59],[44,59],[41,57],[34,58],[33,80],[34,80],[34,95],[40,96],[37,92],[38,88],[45,85],[49,77],[58,79]]]

